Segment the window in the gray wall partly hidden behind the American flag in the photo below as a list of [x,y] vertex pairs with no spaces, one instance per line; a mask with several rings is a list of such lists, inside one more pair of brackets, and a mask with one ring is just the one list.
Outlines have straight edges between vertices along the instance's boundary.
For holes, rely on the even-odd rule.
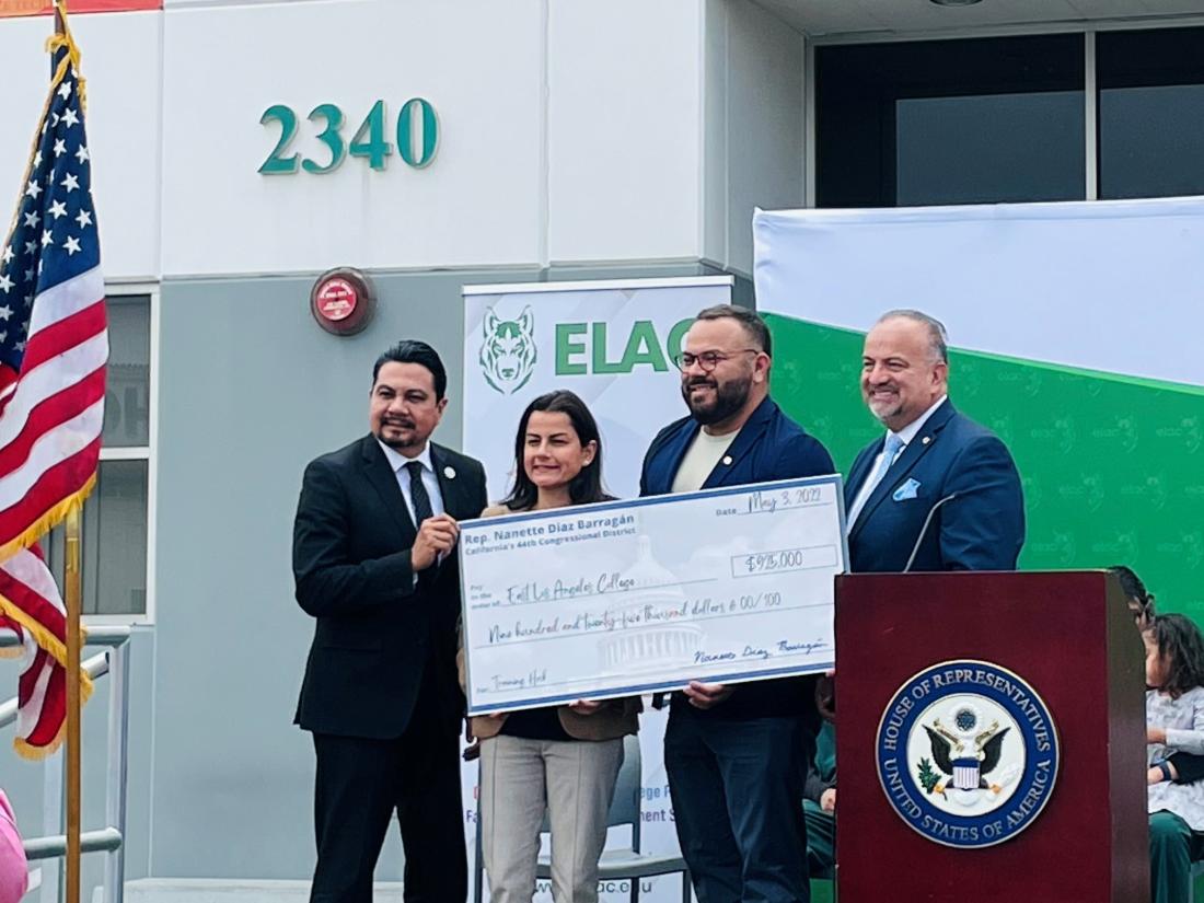
[[[82,610],[147,612],[150,485],[150,296],[110,295],[105,427],[96,488],[83,508]],[[47,553],[63,586],[63,527]]]

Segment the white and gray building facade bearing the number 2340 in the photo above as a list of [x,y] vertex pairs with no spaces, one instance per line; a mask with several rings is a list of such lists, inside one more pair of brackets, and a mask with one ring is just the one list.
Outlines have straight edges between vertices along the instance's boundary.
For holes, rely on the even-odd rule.
[[[462,285],[730,272],[751,302],[754,207],[1204,193],[1202,0],[165,0],[72,26],[113,299],[85,608],[137,625],[131,880],[308,878],[301,471],[364,432],[407,336],[444,355],[459,444]],[[13,196],[49,30],[0,17]],[[335,266],[378,290],[354,337],[309,312]],[[43,767],[0,780],[41,833]],[[400,863],[390,840],[379,878]]]

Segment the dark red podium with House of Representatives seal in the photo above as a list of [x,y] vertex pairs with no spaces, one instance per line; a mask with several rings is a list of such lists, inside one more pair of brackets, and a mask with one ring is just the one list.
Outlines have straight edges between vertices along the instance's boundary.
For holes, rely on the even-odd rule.
[[1145,659],[1114,578],[844,574],[836,636],[840,903],[1147,903]]

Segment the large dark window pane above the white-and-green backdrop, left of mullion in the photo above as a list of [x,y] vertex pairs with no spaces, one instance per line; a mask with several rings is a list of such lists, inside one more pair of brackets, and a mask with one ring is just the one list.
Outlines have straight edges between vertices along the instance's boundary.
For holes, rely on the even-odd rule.
[[1086,196],[1081,34],[819,47],[816,201]]

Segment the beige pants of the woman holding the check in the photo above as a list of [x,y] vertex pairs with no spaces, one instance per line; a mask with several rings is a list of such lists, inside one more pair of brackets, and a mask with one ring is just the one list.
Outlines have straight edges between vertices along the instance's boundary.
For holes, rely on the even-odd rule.
[[480,844],[491,903],[531,903],[545,808],[553,898],[597,902],[598,856],[621,765],[622,738],[482,740]]

